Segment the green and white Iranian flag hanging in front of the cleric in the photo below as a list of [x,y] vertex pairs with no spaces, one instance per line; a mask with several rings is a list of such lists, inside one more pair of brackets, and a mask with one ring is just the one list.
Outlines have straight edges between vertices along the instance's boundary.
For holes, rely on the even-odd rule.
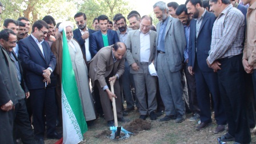
[[[64,23],[63,23],[64,24]],[[67,46],[66,26],[63,26],[63,60],[62,60],[62,118],[63,143],[79,143],[87,131],[75,74],[72,67],[69,47]]]

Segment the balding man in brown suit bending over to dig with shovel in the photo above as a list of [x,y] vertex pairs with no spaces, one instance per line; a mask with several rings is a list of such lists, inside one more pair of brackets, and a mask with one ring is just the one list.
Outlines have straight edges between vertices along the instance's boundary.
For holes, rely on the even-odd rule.
[[[125,71],[125,54],[125,44],[117,42],[115,45],[99,50],[90,62],[89,76],[93,86],[96,85],[99,89],[101,105],[108,126],[114,126],[114,115],[110,103],[113,97],[116,98],[118,121],[129,121],[129,119],[123,118],[120,85],[118,81],[123,71]],[[115,94],[109,89],[109,81],[114,82]]]

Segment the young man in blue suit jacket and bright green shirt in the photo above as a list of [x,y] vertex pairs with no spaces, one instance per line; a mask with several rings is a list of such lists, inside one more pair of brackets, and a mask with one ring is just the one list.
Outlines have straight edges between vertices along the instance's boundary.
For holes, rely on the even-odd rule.
[[119,42],[117,32],[107,29],[109,18],[106,15],[99,15],[98,22],[100,30],[93,33],[91,38],[91,57],[94,57],[102,47],[111,46]]

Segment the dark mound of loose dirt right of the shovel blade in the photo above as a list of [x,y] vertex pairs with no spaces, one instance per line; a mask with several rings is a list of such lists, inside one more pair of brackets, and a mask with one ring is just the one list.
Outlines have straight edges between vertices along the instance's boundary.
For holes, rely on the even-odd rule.
[[150,130],[151,123],[143,119],[134,119],[129,125],[124,126],[124,128],[136,135],[139,131]]

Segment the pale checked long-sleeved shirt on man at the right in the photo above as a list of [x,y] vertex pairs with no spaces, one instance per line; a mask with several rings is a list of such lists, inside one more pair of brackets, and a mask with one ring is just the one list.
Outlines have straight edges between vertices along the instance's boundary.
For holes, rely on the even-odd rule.
[[245,34],[245,17],[233,5],[227,6],[213,25],[209,63],[242,53]]

